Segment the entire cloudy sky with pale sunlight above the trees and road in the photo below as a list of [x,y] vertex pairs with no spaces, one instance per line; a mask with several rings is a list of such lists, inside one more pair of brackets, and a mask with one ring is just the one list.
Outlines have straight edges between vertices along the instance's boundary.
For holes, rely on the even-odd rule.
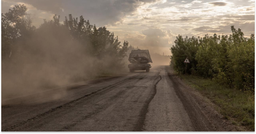
[[54,14],[81,15],[97,27],[106,26],[119,41],[150,53],[171,55],[176,36],[230,35],[230,26],[245,37],[255,33],[254,0],[2,0],[1,12],[24,4],[35,16],[33,25]]

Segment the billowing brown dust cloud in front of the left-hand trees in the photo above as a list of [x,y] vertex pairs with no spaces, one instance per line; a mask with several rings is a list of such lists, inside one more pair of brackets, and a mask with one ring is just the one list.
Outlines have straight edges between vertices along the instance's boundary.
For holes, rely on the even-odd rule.
[[[121,67],[113,67],[111,55],[93,57],[86,44],[71,38],[69,32],[42,30],[16,42],[10,58],[1,63],[2,104],[11,98],[34,93],[40,96],[52,88],[121,72]],[[48,101],[62,98],[66,90],[59,90],[58,94]]]

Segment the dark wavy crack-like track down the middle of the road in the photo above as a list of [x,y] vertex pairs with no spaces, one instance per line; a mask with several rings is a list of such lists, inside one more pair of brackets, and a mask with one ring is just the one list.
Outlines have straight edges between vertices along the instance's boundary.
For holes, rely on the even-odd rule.
[[158,84],[158,82],[162,79],[160,72],[163,69],[161,68],[161,70],[159,71],[159,73],[157,74],[159,77],[157,77],[156,79],[160,78],[155,84],[154,84],[154,90],[153,90],[153,94],[150,96],[150,98],[146,101],[146,104],[143,106],[142,110],[140,111],[140,117],[138,119],[138,121],[135,124],[135,127],[133,128],[133,131],[135,132],[139,132],[142,131],[142,128],[144,126],[144,121],[146,119],[146,114],[148,112],[148,107],[149,104],[151,102],[151,100],[155,97],[156,94],[156,85]]

